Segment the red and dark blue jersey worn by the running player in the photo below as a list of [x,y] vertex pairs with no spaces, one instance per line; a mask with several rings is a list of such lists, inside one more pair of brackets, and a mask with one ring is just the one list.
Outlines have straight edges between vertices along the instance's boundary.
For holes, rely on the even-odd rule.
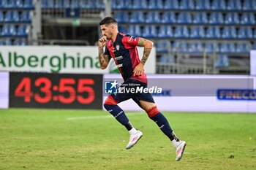
[[112,39],[108,39],[104,54],[113,58],[124,81],[130,78],[147,83],[148,81],[144,71],[140,76],[133,76],[135,66],[140,63],[137,49],[139,39],[139,37],[118,33],[115,42]]

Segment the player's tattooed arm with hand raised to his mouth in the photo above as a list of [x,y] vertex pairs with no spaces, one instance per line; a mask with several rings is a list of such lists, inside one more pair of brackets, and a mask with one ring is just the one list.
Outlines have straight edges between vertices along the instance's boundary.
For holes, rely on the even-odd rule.
[[98,42],[98,49],[99,49],[99,67],[100,69],[106,69],[108,67],[108,63],[110,62],[110,56],[104,54],[103,48],[107,43],[107,38],[102,36]]

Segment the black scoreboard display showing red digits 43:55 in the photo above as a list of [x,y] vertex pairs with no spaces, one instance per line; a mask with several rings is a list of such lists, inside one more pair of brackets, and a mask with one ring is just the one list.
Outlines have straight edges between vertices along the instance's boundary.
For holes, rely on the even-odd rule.
[[102,74],[12,72],[10,107],[102,109]]

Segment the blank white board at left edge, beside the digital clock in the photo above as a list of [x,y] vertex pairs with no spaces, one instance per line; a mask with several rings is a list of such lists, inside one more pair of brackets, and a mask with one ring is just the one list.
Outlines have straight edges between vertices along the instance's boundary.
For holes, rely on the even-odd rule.
[[0,108],[9,107],[9,73],[0,72]]

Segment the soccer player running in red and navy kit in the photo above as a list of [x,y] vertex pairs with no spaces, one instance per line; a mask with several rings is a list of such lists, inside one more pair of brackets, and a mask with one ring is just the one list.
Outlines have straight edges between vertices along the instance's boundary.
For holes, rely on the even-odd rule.
[[[118,23],[115,18],[104,18],[100,21],[99,26],[103,35],[98,42],[100,68],[106,69],[110,59],[113,58],[124,79],[120,87],[134,88],[133,85],[140,85],[140,87],[146,88],[147,78],[144,72],[144,65],[151,53],[153,42],[141,37],[119,33]],[[141,61],[136,46],[144,47]],[[103,50],[104,47],[105,51]],[[116,117],[116,120],[129,131],[129,143],[126,149],[128,150],[133,147],[143,136],[143,133],[129,122],[124,111],[117,105],[129,98],[132,98],[135,103],[147,112],[148,117],[157,123],[161,131],[173,143],[176,149],[176,161],[181,160],[186,142],[179,140],[176,134],[174,134],[165,116],[157,109],[151,93],[115,93],[110,94],[105,100],[105,109]]]

